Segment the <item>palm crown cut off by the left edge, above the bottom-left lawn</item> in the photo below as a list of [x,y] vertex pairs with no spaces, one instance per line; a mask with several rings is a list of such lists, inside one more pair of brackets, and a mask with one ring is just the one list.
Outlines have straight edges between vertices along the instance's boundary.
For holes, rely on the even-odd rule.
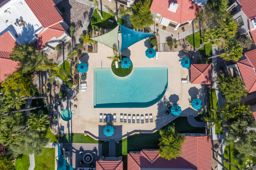
[[21,141],[22,139],[20,137],[16,137],[13,135],[13,132],[11,130],[5,131],[1,130],[0,131],[0,143],[4,146],[7,145],[14,145],[16,141]]

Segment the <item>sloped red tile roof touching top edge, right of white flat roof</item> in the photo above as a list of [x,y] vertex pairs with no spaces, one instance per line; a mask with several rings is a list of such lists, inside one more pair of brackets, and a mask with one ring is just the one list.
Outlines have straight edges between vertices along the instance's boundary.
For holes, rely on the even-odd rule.
[[45,28],[63,20],[52,0],[25,0],[25,2]]

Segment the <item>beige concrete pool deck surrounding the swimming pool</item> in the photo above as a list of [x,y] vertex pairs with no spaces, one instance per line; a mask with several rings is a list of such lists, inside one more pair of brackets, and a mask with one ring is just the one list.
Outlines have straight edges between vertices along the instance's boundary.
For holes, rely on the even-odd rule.
[[[199,98],[204,106],[204,86],[200,84],[181,83],[182,78],[189,79],[189,70],[182,68],[178,62],[179,52],[160,52],[159,59],[153,60],[145,56],[148,46],[148,40],[141,40],[122,52],[122,55],[133,62],[134,67],[167,67],[168,68],[168,90],[164,97],[156,104],[148,108],[94,108],[94,68],[110,67],[112,60],[108,56],[112,56],[112,49],[102,46],[98,43],[98,53],[88,53],[80,57],[80,62],[88,64],[87,71],[87,91],[80,92],[75,99],[66,100],[58,106],[59,129],[65,133],[84,133],[87,132],[95,139],[116,139],[120,140],[133,133],[151,133],[176,119],[171,113],[165,114],[167,105],[177,103],[182,108],[180,116],[197,115],[200,110],[194,110],[189,106],[189,99]],[[183,55],[184,53],[182,53]],[[152,77],[154,79],[154,77]],[[60,112],[63,109],[70,109],[75,115],[68,122],[63,121]],[[111,122],[99,122],[100,113],[111,114]],[[113,123],[113,113],[117,115],[117,122]],[[120,122],[120,113],[127,114],[127,122]],[[152,113],[153,122],[145,123],[145,114]],[[128,123],[128,114],[143,114],[144,124]],[[149,117],[148,117],[149,119]],[[131,120],[132,121],[132,120]],[[103,134],[103,128],[106,125],[114,127],[115,133],[111,137]]]

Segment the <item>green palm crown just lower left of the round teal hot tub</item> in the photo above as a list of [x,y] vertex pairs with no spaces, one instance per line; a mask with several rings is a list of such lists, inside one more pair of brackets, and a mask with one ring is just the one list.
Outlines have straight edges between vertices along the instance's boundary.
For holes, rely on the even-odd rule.
[[31,130],[45,131],[47,129],[47,124],[49,123],[48,115],[33,113],[27,121],[27,126]]

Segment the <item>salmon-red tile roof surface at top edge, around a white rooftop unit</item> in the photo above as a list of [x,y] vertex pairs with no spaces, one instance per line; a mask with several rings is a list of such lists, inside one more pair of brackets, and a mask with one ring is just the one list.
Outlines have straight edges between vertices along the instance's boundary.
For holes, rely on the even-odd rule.
[[161,14],[164,18],[183,24],[189,20],[196,18],[195,12],[200,11],[201,7],[191,0],[173,0],[178,4],[176,12],[169,11],[169,0],[153,0],[150,11]]

